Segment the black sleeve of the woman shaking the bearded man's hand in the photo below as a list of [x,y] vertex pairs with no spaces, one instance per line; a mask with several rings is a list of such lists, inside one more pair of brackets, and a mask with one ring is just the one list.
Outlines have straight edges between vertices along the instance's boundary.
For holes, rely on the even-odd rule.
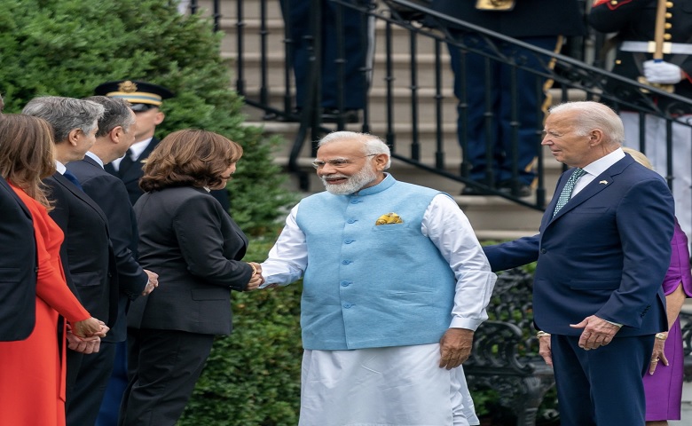
[[209,284],[243,290],[252,276],[252,267],[224,256],[224,250],[237,252],[245,244],[240,236],[229,238],[222,233],[222,220],[228,219],[224,214],[212,197],[192,197],[177,209],[173,228],[190,273]]

